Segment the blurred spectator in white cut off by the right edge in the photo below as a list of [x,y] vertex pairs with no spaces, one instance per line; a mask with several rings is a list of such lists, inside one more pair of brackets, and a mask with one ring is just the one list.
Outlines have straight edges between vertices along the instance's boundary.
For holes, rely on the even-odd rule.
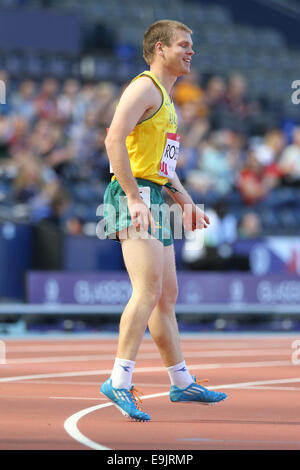
[[300,127],[295,127],[292,144],[288,145],[279,158],[278,166],[283,175],[283,183],[300,185]]

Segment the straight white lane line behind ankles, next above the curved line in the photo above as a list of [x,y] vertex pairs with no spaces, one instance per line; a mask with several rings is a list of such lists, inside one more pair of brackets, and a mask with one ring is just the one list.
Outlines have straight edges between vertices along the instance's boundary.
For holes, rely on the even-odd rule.
[[[261,361],[261,362],[228,362],[228,363],[217,363],[217,364],[191,364],[188,365],[189,370],[210,370],[210,369],[231,369],[231,368],[248,368],[248,367],[285,367],[292,366],[291,361]],[[143,373],[143,372],[166,372],[165,367],[136,367],[134,373]],[[49,378],[58,378],[58,377],[83,377],[83,376],[98,376],[98,375],[108,375],[111,373],[111,369],[99,369],[99,370],[84,370],[84,371],[74,371],[74,372],[53,372],[49,374],[30,374],[30,375],[17,375],[10,377],[1,377],[0,383],[7,382],[19,382],[23,380],[31,379],[49,379]]]

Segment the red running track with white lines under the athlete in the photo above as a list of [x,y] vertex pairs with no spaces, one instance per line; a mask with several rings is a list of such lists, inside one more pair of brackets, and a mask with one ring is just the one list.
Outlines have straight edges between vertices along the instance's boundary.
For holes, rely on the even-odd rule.
[[172,404],[151,338],[134,384],[150,423],[128,421],[99,394],[116,338],[5,339],[0,364],[1,450],[300,449],[300,334],[183,337],[185,360],[228,399]]

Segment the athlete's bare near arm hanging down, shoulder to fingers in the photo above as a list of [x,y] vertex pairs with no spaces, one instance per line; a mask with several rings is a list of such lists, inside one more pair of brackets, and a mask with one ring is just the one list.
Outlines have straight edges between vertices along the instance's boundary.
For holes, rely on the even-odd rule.
[[150,78],[140,77],[132,82],[120,99],[105,140],[113,172],[127,196],[133,224],[139,225],[143,222],[144,228],[147,229],[150,222],[153,230],[154,221],[148,207],[140,198],[138,185],[131,171],[126,137],[136,124],[159,109],[161,100],[161,94]]

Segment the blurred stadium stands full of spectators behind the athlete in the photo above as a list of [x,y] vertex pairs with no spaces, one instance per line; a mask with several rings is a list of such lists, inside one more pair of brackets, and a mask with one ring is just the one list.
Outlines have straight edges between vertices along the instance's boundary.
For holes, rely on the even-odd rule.
[[104,139],[166,18],[193,30],[178,174],[211,219],[204,247],[175,240],[180,327],[300,328],[300,2],[0,0],[0,334],[116,329]]

